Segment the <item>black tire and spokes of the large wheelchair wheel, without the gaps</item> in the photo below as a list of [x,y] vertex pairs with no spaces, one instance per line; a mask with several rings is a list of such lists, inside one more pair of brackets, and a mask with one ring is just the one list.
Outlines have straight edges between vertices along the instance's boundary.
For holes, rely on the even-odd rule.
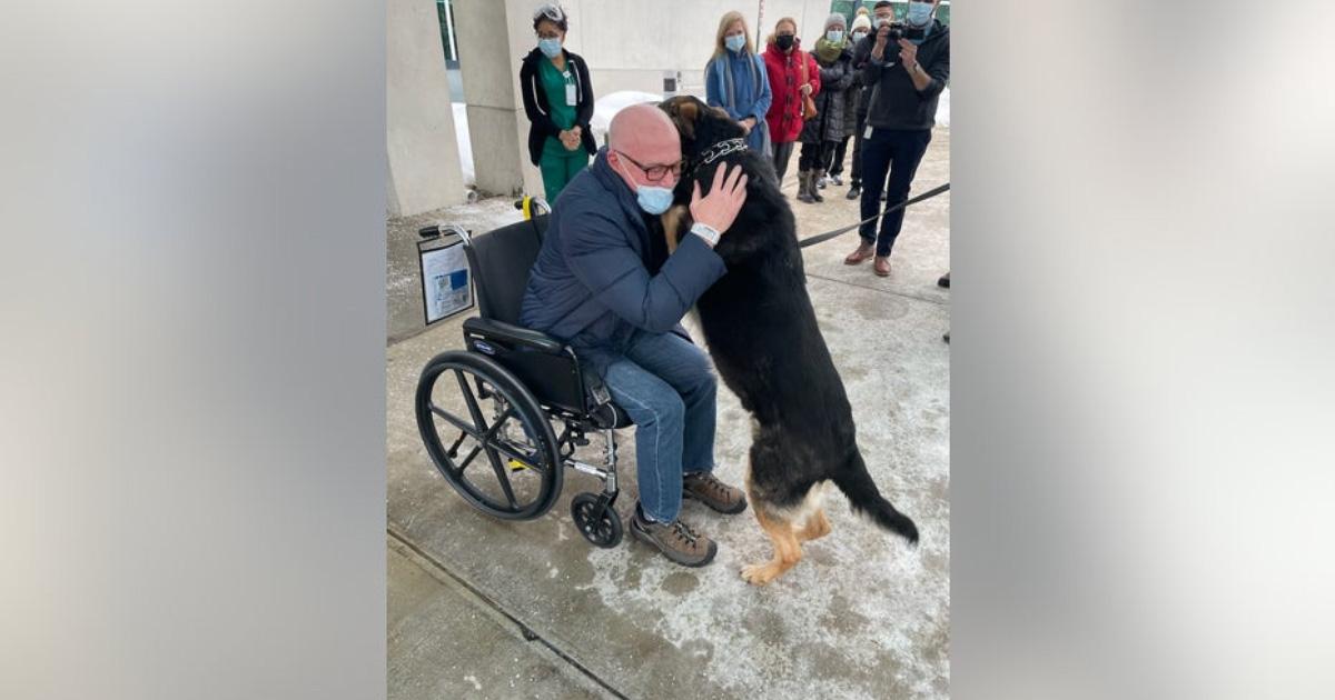
[[[459,385],[458,391],[465,396],[469,415],[459,416],[431,403],[431,392],[437,381],[450,375],[454,375],[454,381]],[[486,383],[491,392],[506,400],[514,412],[514,419],[521,423],[521,429],[531,441],[537,443],[533,453],[522,455],[525,459],[521,460],[527,468],[541,473],[541,487],[531,501],[518,503],[513,500],[510,472],[506,471],[505,464],[507,459],[517,457],[514,451],[502,445],[494,436],[486,443],[478,439],[478,436],[486,437],[486,428],[479,427],[478,420],[482,421],[482,425],[491,427],[482,412],[481,401],[487,399],[481,397],[479,400],[478,380]],[[474,508],[505,520],[533,520],[542,517],[557,503],[557,497],[561,495],[565,464],[557,445],[557,436],[551,431],[551,423],[547,421],[546,413],[529,388],[495,360],[465,351],[442,352],[431,357],[418,380],[414,408],[418,432],[422,435],[422,444],[426,447],[427,455],[431,456],[441,476]],[[438,423],[438,417],[445,419],[443,425]],[[455,461],[442,441],[441,428],[445,428],[446,433],[458,435],[463,425],[470,427],[470,435],[474,436],[477,447],[469,457]],[[454,440],[450,439],[449,443],[454,443]],[[498,480],[506,500],[479,491],[466,477],[463,468],[478,457],[478,452],[483,452],[486,461],[491,463],[493,477]],[[459,467],[461,464],[463,468]]]

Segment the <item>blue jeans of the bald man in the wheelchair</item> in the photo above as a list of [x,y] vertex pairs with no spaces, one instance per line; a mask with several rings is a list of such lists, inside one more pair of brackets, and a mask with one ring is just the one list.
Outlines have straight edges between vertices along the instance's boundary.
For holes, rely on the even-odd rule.
[[603,381],[635,421],[645,515],[659,523],[677,520],[682,475],[714,469],[718,381],[709,357],[674,333],[635,331]]

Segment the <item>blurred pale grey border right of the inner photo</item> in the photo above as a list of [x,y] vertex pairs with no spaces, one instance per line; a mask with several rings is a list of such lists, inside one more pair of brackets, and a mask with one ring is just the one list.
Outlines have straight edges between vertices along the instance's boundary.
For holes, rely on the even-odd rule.
[[1327,3],[959,3],[952,693],[1328,697]]

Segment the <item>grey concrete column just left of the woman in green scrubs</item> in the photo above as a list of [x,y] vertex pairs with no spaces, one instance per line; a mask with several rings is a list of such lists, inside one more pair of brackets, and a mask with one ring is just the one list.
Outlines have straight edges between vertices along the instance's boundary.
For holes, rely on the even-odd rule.
[[519,95],[519,61],[535,45],[533,12],[539,4],[534,0],[454,3],[473,169],[482,192],[542,195],[542,176],[529,163],[529,117]]

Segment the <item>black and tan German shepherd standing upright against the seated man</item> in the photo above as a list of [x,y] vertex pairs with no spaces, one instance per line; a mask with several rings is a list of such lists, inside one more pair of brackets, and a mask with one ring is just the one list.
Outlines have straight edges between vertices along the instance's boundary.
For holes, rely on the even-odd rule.
[[669,251],[690,228],[692,188],[709,192],[724,163],[748,176],[746,203],[714,251],[728,265],[697,301],[714,367],[750,412],[753,436],[746,493],[774,557],[742,568],[764,585],[802,557],[804,541],[829,535],[821,497],[833,481],[856,512],[917,543],[908,516],[881,496],[857,449],[853,412],[806,295],[793,212],[773,165],[745,149],[728,113],[690,96],[658,105],[681,133],[682,176],[674,207],[661,217]]

